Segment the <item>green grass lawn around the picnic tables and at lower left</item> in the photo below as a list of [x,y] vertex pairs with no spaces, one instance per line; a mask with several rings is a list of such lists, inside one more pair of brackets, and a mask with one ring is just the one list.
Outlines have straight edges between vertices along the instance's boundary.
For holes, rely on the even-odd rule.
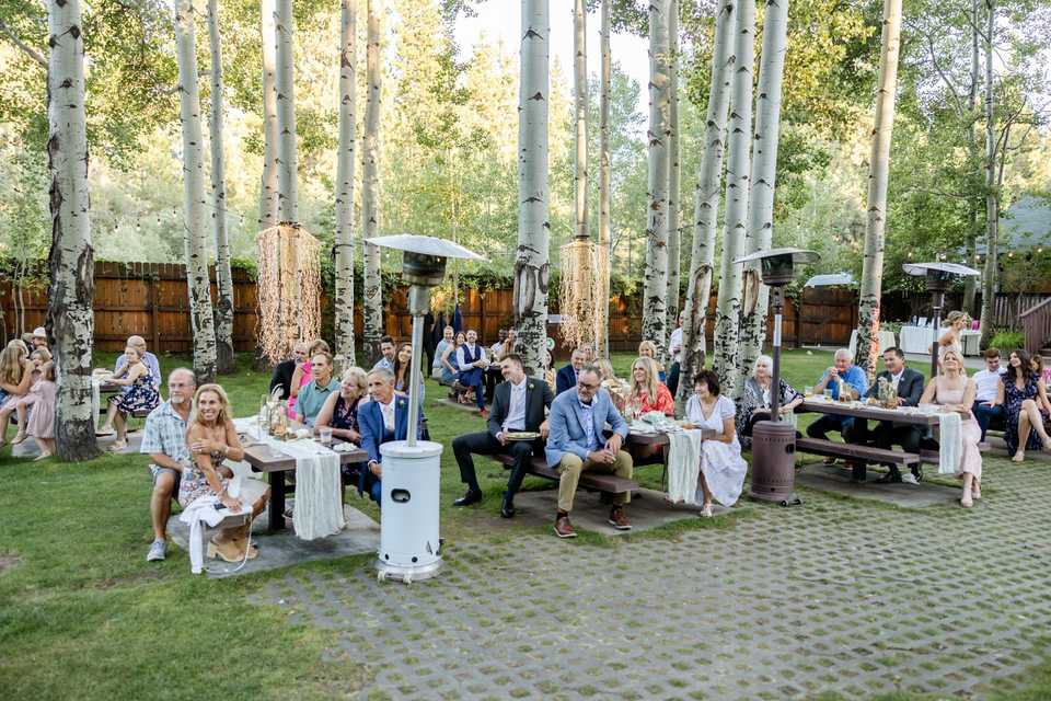
[[[615,358],[620,372],[626,375],[631,359]],[[785,375],[801,388],[815,383],[830,361],[827,353],[792,352]],[[186,363],[162,357],[162,371]],[[249,363],[243,356],[239,371],[222,378],[240,415],[255,411],[268,382],[268,375],[253,372]],[[478,417],[437,404],[444,392],[436,383],[428,381],[427,389],[435,439],[448,446],[454,436],[482,428]],[[163,563],[145,561],[151,540],[146,464],[137,455],[60,464],[0,452],[3,698],[327,699],[363,687],[367,673],[327,654],[333,632],[292,624],[282,610],[249,602],[249,595],[280,572],[210,581],[192,576],[178,550]],[[443,453],[442,535],[464,542],[528,532],[498,517],[503,468],[481,460],[478,468],[488,498],[478,507],[453,509],[463,486],[451,450]],[[657,468],[643,473],[644,481],[658,476]],[[527,489],[541,484],[529,480]],[[355,505],[377,516],[371,503]],[[588,547],[602,539],[578,540],[578,547]],[[298,565],[323,572],[370,566],[371,556]],[[1041,679],[1047,690],[1047,675]]]

